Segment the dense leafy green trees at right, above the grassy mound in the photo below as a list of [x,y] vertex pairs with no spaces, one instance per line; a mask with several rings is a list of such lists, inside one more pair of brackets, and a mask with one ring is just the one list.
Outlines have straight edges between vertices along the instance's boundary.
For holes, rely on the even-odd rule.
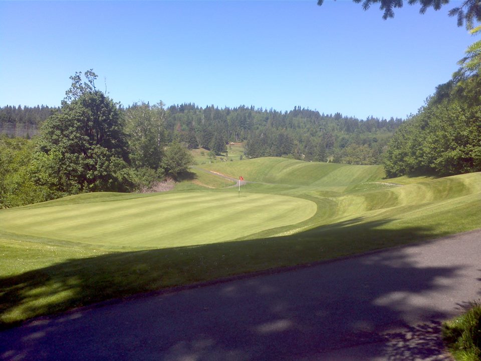
[[474,75],[436,94],[394,134],[384,155],[388,176],[481,171],[481,79]]

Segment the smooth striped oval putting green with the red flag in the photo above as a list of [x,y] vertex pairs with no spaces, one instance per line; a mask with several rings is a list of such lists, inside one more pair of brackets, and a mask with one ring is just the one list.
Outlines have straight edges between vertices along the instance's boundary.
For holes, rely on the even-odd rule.
[[[86,195],[87,196],[87,195]],[[82,197],[82,196],[80,196]],[[314,202],[270,194],[171,193],[0,212],[6,232],[106,247],[162,248],[216,243],[293,225]]]

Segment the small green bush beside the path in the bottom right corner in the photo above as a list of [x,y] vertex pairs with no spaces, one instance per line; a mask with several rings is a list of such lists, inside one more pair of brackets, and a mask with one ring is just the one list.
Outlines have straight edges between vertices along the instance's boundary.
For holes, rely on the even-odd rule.
[[481,359],[481,304],[443,324],[442,335],[454,358],[463,361]]

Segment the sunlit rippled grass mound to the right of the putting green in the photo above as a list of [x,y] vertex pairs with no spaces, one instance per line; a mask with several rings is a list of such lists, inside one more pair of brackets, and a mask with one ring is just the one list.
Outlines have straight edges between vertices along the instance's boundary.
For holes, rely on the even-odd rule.
[[[335,199],[335,210],[323,220],[351,218],[363,222],[385,219],[388,224],[436,227],[450,233],[481,227],[481,173],[422,180],[406,186],[383,186]],[[461,226],[462,225],[462,226]],[[451,229],[449,228],[451,227]]]

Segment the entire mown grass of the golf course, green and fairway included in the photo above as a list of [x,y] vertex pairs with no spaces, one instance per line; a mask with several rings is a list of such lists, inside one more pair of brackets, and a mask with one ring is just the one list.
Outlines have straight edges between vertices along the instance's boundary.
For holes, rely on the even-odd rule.
[[1,210],[0,325],[481,228],[479,172],[385,179],[381,165],[277,157],[191,171],[168,192]]

